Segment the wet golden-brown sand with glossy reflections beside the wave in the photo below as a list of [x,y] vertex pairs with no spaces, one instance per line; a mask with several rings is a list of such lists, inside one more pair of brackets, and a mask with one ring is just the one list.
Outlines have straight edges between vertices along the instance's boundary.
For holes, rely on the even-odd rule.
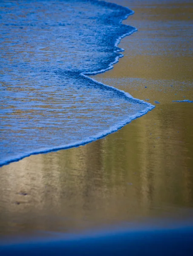
[[156,108],[104,139],[3,166],[1,236],[193,216],[193,103],[173,102],[193,100],[193,3],[114,2],[135,11],[124,23],[138,32],[94,78]]

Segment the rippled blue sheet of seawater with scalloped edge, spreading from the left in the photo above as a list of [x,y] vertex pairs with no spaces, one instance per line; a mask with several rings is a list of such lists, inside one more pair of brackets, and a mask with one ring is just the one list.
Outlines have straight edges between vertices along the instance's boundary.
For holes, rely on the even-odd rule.
[[86,74],[118,61],[133,12],[86,0],[0,1],[0,166],[91,142],[154,106]]

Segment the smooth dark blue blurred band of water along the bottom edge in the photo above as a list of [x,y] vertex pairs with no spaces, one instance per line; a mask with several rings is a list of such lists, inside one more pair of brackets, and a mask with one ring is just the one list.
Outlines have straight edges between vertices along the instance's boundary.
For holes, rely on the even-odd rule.
[[23,255],[193,255],[193,227],[140,227],[83,234],[52,233],[48,239],[0,244],[1,256]]

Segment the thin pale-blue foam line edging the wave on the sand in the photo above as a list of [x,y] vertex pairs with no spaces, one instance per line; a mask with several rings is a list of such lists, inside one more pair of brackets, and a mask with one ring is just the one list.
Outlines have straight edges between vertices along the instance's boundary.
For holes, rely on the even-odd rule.
[[[99,1],[97,1],[98,3],[100,3]],[[103,1],[105,2],[105,1]],[[107,3],[107,2],[106,2]],[[110,4],[110,3],[108,3]],[[122,23],[123,20],[127,19],[127,17],[129,17],[130,15],[133,15],[134,14],[134,11],[130,10],[129,8],[127,7],[123,7],[123,6],[120,6],[120,5],[117,5],[117,4],[113,4],[114,6],[119,6],[121,8],[125,8],[125,9],[128,9],[128,11],[130,11],[130,13],[128,13],[127,15],[125,15],[122,20],[120,20],[120,23]],[[137,31],[137,29],[133,28],[132,31],[124,34],[124,35],[121,35],[115,42],[115,47],[118,47],[118,44],[120,43],[121,39],[126,37],[127,35],[131,35],[133,34],[133,32]],[[124,49],[122,48],[119,48],[117,50],[115,50],[114,52],[117,53],[117,52],[120,52],[120,51],[124,51]],[[95,81],[95,83],[97,84],[100,84],[100,85],[103,85],[104,87],[107,87],[107,88],[110,88],[111,90],[114,90],[118,93],[121,93],[123,96],[126,96],[128,99],[132,99],[133,101],[135,101],[136,103],[143,103],[145,105],[147,105],[147,108],[143,111],[140,111],[138,112],[137,114],[133,115],[133,116],[130,116],[129,118],[127,119],[124,119],[122,122],[119,122],[118,124],[116,125],[113,125],[112,127],[110,127],[109,129],[107,130],[104,130],[103,132],[101,133],[98,133],[96,134],[95,136],[93,137],[88,137],[86,140],[81,140],[81,141],[77,141],[76,143],[70,143],[70,144],[64,144],[64,145],[60,145],[58,147],[53,147],[53,148],[40,148],[39,150],[37,151],[32,151],[32,152],[27,152],[27,153],[24,153],[23,155],[18,155],[14,158],[8,158],[8,159],[5,159],[4,161],[0,162],[0,167],[3,166],[3,165],[7,165],[9,163],[12,163],[12,162],[17,162],[25,157],[29,157],[31,155],[35,155],[35,154],[45,154],[45,153],[49,153],[49,152],[52,152],[52,151],[58,151],[58,150],[61,150],[61,149],[67,149],[67,148],[73,148],[73,147],[78,147],[80,145],[85,145],[87,143],[90,143],[92,141],[95,141],[95,140],[99,140],[103,137],[106,137],[108,134],[111,134],[115,131],[118,131],[119,129],[121,129],[123,126],[127,125],[128,123],[130,123],[132,120],[134,119],[137,119],[138,117],[140,116],[143,116],[145,115],[147,112],[149,112],[150,110],[152,110],[153,108],[155,108],[154,105],[150,104],[149,102],[145,102],[141,99],[136,99],[134,98],[133,96],[131,96],[129,93],[126,93],[125,91],[123,90],[119,90],[115,87],[112,87],[112,86],[109,86],[109,85],[106,85],[106,84],[103,84],[101,82],[98,82],[94,79],[92,79],[91,77],[88,77],[88,75],[96,75],[98,73],[104,73],[106,72],[107,70],[110,70],[113,68],[113,64],[117,63],[119,61],[119,58],[123,57],[124,55],[120,54],[119,56],[117,56],[115,58],[115,61],[111,62],[109,64],[109,67],[107,67],[107,69],[103,69],[103,70],[99,70],[99,71],[93,71],[93,72],[87,72],[87,73],[81,73],[80,75],[81,76],[84,76],[86,77],[87,79],[90,79],[92,81]]]

